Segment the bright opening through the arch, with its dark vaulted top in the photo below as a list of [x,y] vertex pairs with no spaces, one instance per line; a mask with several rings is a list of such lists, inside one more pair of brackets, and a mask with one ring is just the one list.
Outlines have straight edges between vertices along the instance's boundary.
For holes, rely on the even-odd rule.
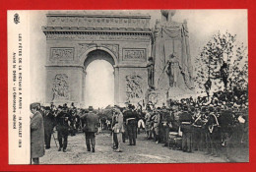
[[104,108],[114,104],[114,59],[107,52],[94,50],[84,62],[86,71],[85,105]]

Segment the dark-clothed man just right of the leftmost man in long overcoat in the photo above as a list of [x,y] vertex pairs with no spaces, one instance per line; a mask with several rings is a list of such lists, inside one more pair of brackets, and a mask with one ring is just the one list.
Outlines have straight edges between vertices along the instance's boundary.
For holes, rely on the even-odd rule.
[[52,114],[52,111],[49,106],[45,107],[45,113],[43,117],[43,126],[44,126],[44,141],[45,148],[50,148],[51,134],[55,125],[55,117]]

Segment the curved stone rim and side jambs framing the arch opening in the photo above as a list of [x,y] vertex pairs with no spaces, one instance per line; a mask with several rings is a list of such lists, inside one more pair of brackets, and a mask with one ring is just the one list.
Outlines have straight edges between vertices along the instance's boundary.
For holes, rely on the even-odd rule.
[[[113,75],[114,75],[114,103],[118,102],[118,70],[116,68],[116,63],[117,59],[111,51],[104,47],[93,47],[89,50],[87,50],[82,58],[81,62],[84,61],[84,78],[83,78],[83,83],[82,83],[82,94],[83,94],[83,102],[86,102],[86,89],[87,89],[87,69],[88,66],[92,63],[95,62],[96,60],[104,60],[108,63],[110,63],[114,69]],[[86,104],[88,106],[88,104]]]

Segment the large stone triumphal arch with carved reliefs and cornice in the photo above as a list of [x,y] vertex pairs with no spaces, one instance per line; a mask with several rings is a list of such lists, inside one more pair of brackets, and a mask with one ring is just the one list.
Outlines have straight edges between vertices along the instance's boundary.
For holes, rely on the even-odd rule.
[[138,103],[148,88],[149,15],[47,14],[45,102],[85,102],[87,66],[103,59],[114,68],[114,101]]

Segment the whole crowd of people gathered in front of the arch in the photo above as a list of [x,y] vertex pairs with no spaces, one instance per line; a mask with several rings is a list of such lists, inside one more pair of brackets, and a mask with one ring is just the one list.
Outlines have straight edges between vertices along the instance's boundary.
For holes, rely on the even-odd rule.
[[234,142],[248,145],[248,97],[245,94],[237,97],[220,91],[211,97],[169,100],[167,106],[161,107],[151,102],[145,108],[140,104],[115,105],[111,119],[98,118],[98,111],[92,106],[82,109],[76,108],[74,103],[70,107],[53,103],[43,107],[32,103],[31,110],[32,161],[35,164],[44,154],[44,144],[46,149],[50,148],[52,137],[58,150],[66,152],[68,136],[75,136],[79,131],[85,133],[88,151],[93,152],[96,151],[96,133],[101,130],[111,131],[112,148],[116,152],[122,151],[121,143],[127,139],[129,145],[136,145],[137,136],[142,132],[147,140],[163,143],[171,149],[201,150],[214,156],[225,152],[227,158],[228,147]]

